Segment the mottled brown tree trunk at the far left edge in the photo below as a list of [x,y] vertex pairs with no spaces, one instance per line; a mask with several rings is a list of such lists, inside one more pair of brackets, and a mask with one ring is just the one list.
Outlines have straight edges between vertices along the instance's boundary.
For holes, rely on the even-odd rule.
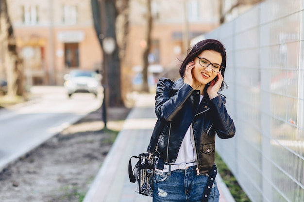
[[7,77],[7,95],[23,95],[23,65],[17,54],[14,30],[8,15],[6,0],[0,0],[0,43],[3,44]]

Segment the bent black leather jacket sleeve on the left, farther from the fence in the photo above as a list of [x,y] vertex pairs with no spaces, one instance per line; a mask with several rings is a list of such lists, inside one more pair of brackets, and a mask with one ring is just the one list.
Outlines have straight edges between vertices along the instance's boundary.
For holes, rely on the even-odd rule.
[[186,99],[193,93],[193,89],[188,84],[183,86],[171,96],[173,81],[161,78],[156,87],[155,113],[162,121],[172,121],[174,116],[182,109]]

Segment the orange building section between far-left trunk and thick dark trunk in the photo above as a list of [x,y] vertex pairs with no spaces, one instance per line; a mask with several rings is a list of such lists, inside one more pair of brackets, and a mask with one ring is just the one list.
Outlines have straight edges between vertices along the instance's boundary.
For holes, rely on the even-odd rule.
[[71,69],[97,70],[101,47],[90,0],[7,0],[29,85],[61,85]]

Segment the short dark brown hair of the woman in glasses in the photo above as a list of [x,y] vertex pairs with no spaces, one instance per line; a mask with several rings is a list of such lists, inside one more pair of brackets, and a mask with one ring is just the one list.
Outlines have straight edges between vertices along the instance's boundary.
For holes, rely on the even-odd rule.
[[[221,66],[223,66],[224,68],[221,70],[221,75],[224,77],[224,73],[225,73],[225,69],[226,69],[226,49],[224,47],[224,45],[215,39],[205,39],[203,41],[200,41],[199,43],[193,45],[192,47],[190,47],[187,51],[187,56],[184,60],[184,62],[182,63],[179,73],[180,76],[182,78],[184,78],[185,76],[185,69],[186,69],[186,65],[187,63],[189,63],[190,61],[193,61],[196,56],[200,55],[204,50],[214,50],[216,52],[219,52],[221,57],[222,57],[222,62],[221,62]],[[206,88],[209,85],[206,85]],[[227,88],[227,84],[223,81],[220,87],[220,91],[222,91],[224,89],[224,86],[226,86]],[[205,90],[206,90],[205,88]]]

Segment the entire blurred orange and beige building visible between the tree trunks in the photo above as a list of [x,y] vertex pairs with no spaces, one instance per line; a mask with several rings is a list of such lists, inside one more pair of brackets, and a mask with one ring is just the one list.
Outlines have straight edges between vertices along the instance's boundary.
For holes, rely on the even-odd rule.
[[[124,81],[123,85],[130,84],[142,66],[146,44],[144,2],[129,1],[130,30],[121,62],[122,80],[129,82]],[[101,47],[93,27],[90,0],[7,0],[7,3],[28,84],[62,85],[63,75],[71,69],[101,69]],[[164,74],[178,68],[179,59],[186,54],[185,31],[186,41],[190,42],[219,26],[219,1],[152,0],[152,16],[149,62],[152,73]]]

